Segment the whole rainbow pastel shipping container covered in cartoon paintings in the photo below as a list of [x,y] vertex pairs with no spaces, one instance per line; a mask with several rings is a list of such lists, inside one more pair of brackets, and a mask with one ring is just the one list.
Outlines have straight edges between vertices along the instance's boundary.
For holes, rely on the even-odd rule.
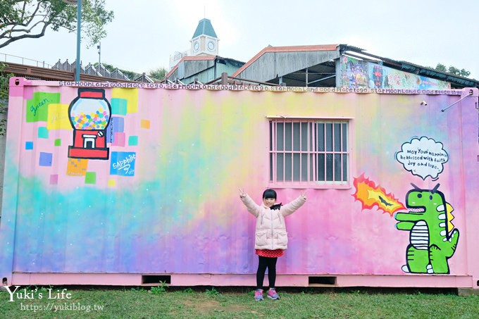
[[254,286],[273,188],[278,286],[478,289],[478,95],[12,78],[0,278]]

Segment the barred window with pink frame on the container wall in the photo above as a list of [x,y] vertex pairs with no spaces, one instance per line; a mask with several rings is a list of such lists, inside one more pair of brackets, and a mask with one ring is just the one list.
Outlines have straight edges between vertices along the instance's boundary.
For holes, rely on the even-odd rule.
[[348,120],[270,120],[270,183],[349,187]]

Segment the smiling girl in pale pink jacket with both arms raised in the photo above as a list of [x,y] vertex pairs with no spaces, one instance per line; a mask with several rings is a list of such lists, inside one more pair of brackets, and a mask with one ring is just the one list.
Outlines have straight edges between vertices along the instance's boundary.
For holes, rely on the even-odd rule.
[[275,290],[276,261],[283,256],[287,249],[287,232],[285,216],[291,215],[306,202],[306,193],[301,192],[297,199],[290,204],[281,206],[276,204],[276,192],[266,189],[263,192],[263,204],[256,204],[242,189],[239,189],[239,198],[249,213],[256,217],[256,234],[254,248],[259,256],[258,271],[256,272],[256,291],[254,299],[263,300],[263,280],[268,268],[269,290],[268,298],[280,299]]

